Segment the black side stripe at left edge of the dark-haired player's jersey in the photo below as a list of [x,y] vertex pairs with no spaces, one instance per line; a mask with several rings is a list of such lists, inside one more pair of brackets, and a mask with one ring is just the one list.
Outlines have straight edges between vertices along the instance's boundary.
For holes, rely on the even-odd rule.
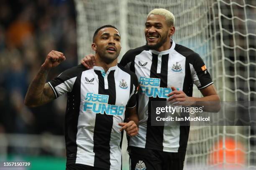
[[75,163],[77,158],[77,123],[80,111],[81,75],[77,76],[72,92],[68,92],[67,110],[65,115],[65,140],[67,165]]

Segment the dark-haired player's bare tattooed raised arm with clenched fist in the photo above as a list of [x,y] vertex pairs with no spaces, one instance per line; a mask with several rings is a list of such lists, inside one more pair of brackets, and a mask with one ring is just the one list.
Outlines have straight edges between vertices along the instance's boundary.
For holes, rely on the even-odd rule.
[[46,78],[52,67],[58,66],[62,61],[66,60],[62,52],[51,51],[41,65],[39,72],[28,87],[25,97],[25,105],[36,107],[44,105],[55,99],[54,91],[51,89]]

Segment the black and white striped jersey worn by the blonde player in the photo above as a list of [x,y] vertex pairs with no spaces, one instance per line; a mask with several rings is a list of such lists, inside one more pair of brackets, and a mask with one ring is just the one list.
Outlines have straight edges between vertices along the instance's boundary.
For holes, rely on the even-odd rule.
[[174,86],[192,96],[193,84],[198,89],[211,85],[213,82],[201,57],[172,41],[172,47],[162,52],[150,50],[146,45],[129,50],[120,64],[135,72],[140,84],[139,133],[130,138],[129,145],[165,152],[186,150],[189,126],[151,126],[151,101],[166,101],[172,91],[167,87]]

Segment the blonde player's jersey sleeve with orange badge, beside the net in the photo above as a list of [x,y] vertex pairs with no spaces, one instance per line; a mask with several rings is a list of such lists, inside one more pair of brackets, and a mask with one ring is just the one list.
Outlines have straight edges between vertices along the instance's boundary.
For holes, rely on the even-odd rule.
[[189,62],[190,72],[197,88],[200,90],[213,84],[210,73],[202,58],[197,53],[193,53],[190,57],[192,59],[192,62]]

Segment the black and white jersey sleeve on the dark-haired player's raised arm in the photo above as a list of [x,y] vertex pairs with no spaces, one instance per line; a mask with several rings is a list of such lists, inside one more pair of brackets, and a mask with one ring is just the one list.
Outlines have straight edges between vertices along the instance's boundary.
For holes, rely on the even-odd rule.
[[55,97],[63,95],[66,92],[71,92],[73,89],[74,82],[77,78],[77,68],[72,67],[62,72],[54,80],[49,81],[49,85],[54,91]]

